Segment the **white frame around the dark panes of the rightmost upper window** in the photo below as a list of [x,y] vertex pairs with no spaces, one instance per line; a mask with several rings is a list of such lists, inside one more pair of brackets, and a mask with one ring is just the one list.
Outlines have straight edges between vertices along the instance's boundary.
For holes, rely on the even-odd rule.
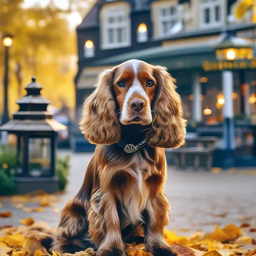
[[[217,28],[223,24],[224,0],[200,0],[199,1],[199,27]],[[220,20],[215,20],[215,8],[220,8]],[[205,23],[205,9],[209,8],[209,23]]]

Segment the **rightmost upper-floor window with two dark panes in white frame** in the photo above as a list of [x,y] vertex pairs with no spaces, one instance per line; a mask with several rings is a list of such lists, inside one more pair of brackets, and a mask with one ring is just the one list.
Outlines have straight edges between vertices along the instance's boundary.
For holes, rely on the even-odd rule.
[[221,0],[200,0],[200,28],[218,27],[222,24],[223,6]]

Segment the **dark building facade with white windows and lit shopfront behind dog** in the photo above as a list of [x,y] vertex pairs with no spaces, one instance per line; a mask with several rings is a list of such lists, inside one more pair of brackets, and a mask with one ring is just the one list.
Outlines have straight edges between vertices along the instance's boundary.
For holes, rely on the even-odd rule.
[[[98,0],[77,27],[77,119],[84,99],[94,90],[97,75],[136,58],[168,68],[177,79],[188,132],[212,132],[220,137],[220,149],[227,146],[225,139],[221,140],[220,127],[226,118],[225,84],[231,83],[226,100],[232,97],[232,148],[252,145],[256,62],[251,51],[235,48],[236,44],[252,47],[255,24],[253,10],[248,10],[241,20],[234,18],[237,4],[238,0]],[[235,38],[234,47],[227,49],[225,60],[221,60],[216,48],[225,35]],[[235,58],[237,51],[242,56],[239,60]]]

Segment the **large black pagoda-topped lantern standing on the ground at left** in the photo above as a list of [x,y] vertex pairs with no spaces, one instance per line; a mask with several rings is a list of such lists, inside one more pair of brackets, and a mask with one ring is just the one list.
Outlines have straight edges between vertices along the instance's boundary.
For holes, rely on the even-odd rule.
[[19,111],[0,130],[17,136],[15,182],[19,193],[38,189],[54,193],[58,191],[56,137],[58,131],[67,127],[47,112],[51,102],[40,94],[42,86],[36,83],[35,77],[25,89],[27,95],[17,100]]

